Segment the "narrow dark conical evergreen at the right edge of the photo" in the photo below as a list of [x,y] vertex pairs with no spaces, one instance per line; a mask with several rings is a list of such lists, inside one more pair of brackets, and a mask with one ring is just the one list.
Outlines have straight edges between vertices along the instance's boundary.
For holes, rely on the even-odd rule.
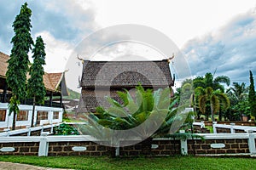
[[256,94],[255,94],[252,71],[250,71],[250,87],[249,87],[248,101],[250,105],[251,116],[256,116]]

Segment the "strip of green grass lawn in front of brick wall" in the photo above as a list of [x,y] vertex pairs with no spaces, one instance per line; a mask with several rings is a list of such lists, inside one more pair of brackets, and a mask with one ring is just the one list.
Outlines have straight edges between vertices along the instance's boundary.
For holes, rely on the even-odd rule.
[[0,156],[0,161],[26,163],[40,167],[72,169],[256,169],[256,159],[238,157],[165,156],[153,158],[109,158],[89,156]]

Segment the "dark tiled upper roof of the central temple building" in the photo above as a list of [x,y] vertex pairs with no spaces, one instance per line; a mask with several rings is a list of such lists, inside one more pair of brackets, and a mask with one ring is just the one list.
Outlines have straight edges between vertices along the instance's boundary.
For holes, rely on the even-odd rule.
[[171,87],[173,80],[169,63],[160,61],[84,61],[83,88]]

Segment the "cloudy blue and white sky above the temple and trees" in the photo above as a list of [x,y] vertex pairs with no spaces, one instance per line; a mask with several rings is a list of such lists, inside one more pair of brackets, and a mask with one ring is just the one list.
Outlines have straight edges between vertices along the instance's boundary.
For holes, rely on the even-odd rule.
[[[150,59],[170,56],[152,50],[150,46],[122,43],[104,48],[91,58],[92,46],[102,40],[118,40],[119,35],[97,34],[96,31],[122,24],[148,26],[160,31],[176,44],[187,60],[192,77],[216,71],[231,82],[247,82],[248,71],[256,75],[256,2],[220,0],[38,0],[26,1],[32,9],[32,37],[39,35],[46,44],[45,71],[65,71],[70,58],[77,54],[86,59],[113,59],[125,53],[150,55]],[[25,1],[0,0],[0,51],[10,54],[14,36],[12,23]],[[99,36],[102,35],[102,36]],[[154,36],[154,35],[153,35]],[[92,40],[93,39],[93,40]],[[85,52],[79,51],[79,47]],[[149,47],[149,48],[148,48]],[[173,49],[179,56],[179,52]],[[181,67],[177,60],[171,63],[174,73]],[[79,60],[73,67],[79,67]],[[176,68],[176,69],[175,69]],[[72,69],[70,69],[72,70]],[[70,71],[72,72],[72,71]],[[255,78],[254,78],[255,79]],[[177,76],[177,81],[183,77]]]

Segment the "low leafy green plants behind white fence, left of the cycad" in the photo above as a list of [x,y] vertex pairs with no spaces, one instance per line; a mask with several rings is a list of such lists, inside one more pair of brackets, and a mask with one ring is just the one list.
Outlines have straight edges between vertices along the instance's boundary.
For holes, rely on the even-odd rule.
[[54,128],[55,135],[79,135],[79,131],[72,125],[61,123],[60,126]]

